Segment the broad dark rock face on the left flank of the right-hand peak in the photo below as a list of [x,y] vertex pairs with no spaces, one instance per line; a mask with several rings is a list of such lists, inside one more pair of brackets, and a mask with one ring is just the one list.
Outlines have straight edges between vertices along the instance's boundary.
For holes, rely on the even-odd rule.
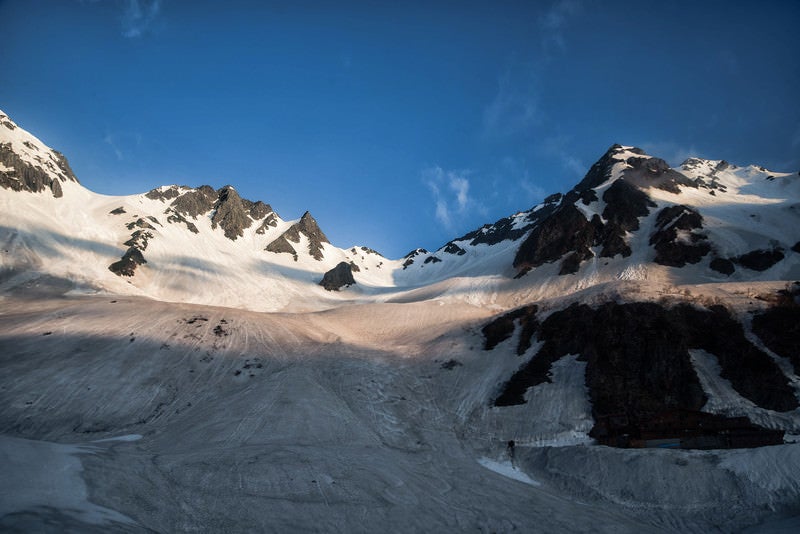
[[580,260],[591,258],[589,247],[594,238],[595,227],[583,213],[572,204],[562,205],[534,227],[522,242],[514,258],[514,267],[526,272],[554,262],[568,252],[573,252]]

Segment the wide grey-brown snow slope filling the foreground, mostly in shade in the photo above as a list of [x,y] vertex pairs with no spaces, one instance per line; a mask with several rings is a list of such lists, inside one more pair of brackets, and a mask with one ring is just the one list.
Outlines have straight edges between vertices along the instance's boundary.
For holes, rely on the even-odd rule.
[[[570,444],[559,425],[587,417],[575,358],[536,406],[488,408],[520,357],[484,351],[487,311],[463,302],[261,314],[6,297],[2,310],[0,434],[14,438],[0,450],[37,440],[14,476],[76,458],[38,440],[96,451],[46,502],[11,501],[4,528],[68,526],[91,509],[130,531],[704,532],[781,519],[800,499],[796,445]],[[131,434],[142,438],[97,442]]]

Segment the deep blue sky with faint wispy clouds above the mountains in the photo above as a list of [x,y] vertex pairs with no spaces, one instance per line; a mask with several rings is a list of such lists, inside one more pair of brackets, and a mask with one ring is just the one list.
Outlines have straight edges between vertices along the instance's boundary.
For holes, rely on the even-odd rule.
[[105,194],[232,184],[400,257],[613,143],[800,169],[800,2],[0,0],[0,109]]

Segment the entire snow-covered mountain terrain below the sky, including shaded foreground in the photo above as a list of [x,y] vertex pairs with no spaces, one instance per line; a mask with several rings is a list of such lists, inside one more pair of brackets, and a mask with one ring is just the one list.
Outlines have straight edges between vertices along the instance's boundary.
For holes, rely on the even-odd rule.
[[797,174],[614,145],[388,259],[233,186],[94,193],[0,113],[0,213],[0,530],[794,520]]

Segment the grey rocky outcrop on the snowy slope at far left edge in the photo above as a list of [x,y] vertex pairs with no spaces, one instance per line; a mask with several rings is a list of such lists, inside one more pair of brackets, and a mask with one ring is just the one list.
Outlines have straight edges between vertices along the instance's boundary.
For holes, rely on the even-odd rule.
[[[0,187],[31,193],[50,190],[54,197],[62,197],[63,191],[58,180],[77,182],[78,179],[69,167],[66,158],[58,152],[53,152],[57,163],[54,164],[51,160],[43,157],[41,159],[42,166],[38,167],[23,161],[11,149],[11,143],[0,143],[0,163],[11,169],[0,171]],[[55,173],[58,180],[51,178],[48,171]]]

